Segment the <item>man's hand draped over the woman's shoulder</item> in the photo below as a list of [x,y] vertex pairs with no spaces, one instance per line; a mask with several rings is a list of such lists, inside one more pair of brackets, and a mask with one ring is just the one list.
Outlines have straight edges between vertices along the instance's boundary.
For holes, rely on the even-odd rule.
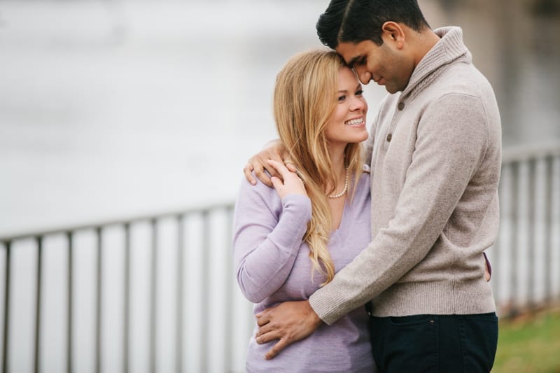
[[[267,160],[275,160],[276,162],[286,163],[289,160],[286,159],[288,157],[288,153],[286,149],[284,149],[282,143],[279,140],[274,140],[269,142],[269,146],[260,150],[257,154],[253,155],[253,157],[249,158],[247,164],[243,168],[243,173],[245,174],[245,178],[247,181],[253,185],[257,183],[251,171],[255,171],[255,176],[265,183],[269,187],[272,188],[272,181],[267,174],[265,174],[265,170],[268,171],[270,176],[278,176],[278,172],[274,167],[271,167],[270,164],[267,163]],[[293,169],[291,171],[294,171]]]

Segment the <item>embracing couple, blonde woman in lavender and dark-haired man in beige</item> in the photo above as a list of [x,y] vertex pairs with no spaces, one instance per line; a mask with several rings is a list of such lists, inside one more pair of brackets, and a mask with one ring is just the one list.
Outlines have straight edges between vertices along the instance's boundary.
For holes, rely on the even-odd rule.
[[[235,207],[247,372],[489,372],[491,85],[461,29],[430,29],[416,0],[331,0],[316,28],[330,50],[279,72],[280,140],[246,165]],[[389,94],[368,136],[371,80]]]

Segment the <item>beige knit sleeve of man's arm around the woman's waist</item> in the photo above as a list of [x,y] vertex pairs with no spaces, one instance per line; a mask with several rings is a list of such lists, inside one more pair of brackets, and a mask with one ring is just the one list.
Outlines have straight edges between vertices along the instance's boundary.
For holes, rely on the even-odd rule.
[[487,126],[482,102],[468,94],[447,94],[426,109],[393,218],[309,299],[325,323],[377,297],[426,257],[484,159]]

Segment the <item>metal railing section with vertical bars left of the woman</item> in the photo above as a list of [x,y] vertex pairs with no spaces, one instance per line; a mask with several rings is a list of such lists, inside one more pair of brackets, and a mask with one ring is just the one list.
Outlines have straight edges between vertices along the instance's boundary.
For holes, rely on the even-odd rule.
[[[79,323],[79,321],[76,320],[75,309],[76,295],[78,292],[74,284],[78,283],[78,281],[84,281],[84,279],[80,279],[80,273],[78,273],[76,269],[76,253],[82,249],[80,246],[88,245],[94,246],[95,253],[94,279],[89,279],[94,283],[94,300],[89,304],[89,307],[92,307],[94,310],[94,316],[92,317],[94,335],[89,336],[94,340],[90,351],[94,358],[92,359],[92,366],[89,367],[90,369],[85,370],[94,372],[102,372],[104,370],[116,370],[118,372],[131,371],[131,335],[133,328],[132,323],[134,323],[134,318],[132,317],[134,315],[132,315],[131,310],[131,289],[135,286],[132,278],[132,270],[134,269],[134,265],[139,261],[133,260],[134,250],[136,249],[135,246],[139,246],[139,244],[140,246],[141,244],[144,244],[144,246],[148,244],[149,246],[149,255],[144,255],[144,269],[148,269],[146,276],[148,276],[149,279],[148,289],[145,289],[146,291],[144,292],[148,298],[144,302],[144,308],[148,310],[148,317],[147,320],[145,320],[147,325],[138,325],[138,323],[134,325],[135,329],[144,329],[145,331],[144,341],[148,344],[147,348],[144,348],[144,352],[147,353],[147,359],[144,358],[144,366],[147,368],[146,371],[210,372],[216,371],[216,369],[219,371],[235,370],[232,368],[234,365],[232,362],[232,353],[234,350],[232,346],[236,344],[239,345],[239,343],[236,343],[232,330],[235,328],[235,324],[239,322],[234,318],[238,318],[238,316],[235,316],[235,313],[228,309],[231,304],[235,303],[234,297],[236,294],[234,286],[237,287],[237,283],[235,283],[234,280],[235,276],[232,273],[232,260],[230,258],[232,209],[233,204],[221,204],[201,209],[190,209],[174,213],[163,213],[153,216],[0,237],[3,252],[5,253],[5,257],[3,258],[5,267],[3,271],[2,372],[19,372],[20,370],[41,372],[55,369],[49,367],[49,357],[45,356],[45,353],[42,351],[45,348],[45,339],[47,339],[43,337],[46,326],[44,302],[47,290],[43,282],[46,279],[45,248],[49,244],[50,246],[58,246],[58,248],[65,246],[66,251],[66,268],[62,269],[66,272],[66,284],[64,288],[50,289],[51,292],[65,293],[66,298],[66,323],[65,325],[59,325],[61,329],[66,330],[64,351],[66,361],[64,362],[65,367],[63,367],[62,371],[79,372],[83,371],[83,368],[85,368],[81,366],[83,364],[80,363],[80,360],[82,360],[78,356],[80,354],[74,351],[74,347],[80,344],[77,339],[84,338],[76,337],[76,326]],[[221,221],[214,221],[216,219]],[[219,228],[216,228],[215,225],[219,225]],[[109,238],[111,234],[113,234],[113,239]],[[116,239],[115,234],[120,237]],[[83,236],[89,237],[85,237],[86,239],[84,240]],[[188,236],[191,238],[190,241],[197,241],[196,244],[190,244]],[[78,239],[78,237],[80,239]],[[136,244],[133,243],[134,237],[137,237]],[[166,239],[167,243],[165,243]],[[216,242],[216,239],[218,239],[219,242]],[[77,241],[81,241],[81,243],[78,244]],[[89,243],[85,241],[89,241]],[[171,241],[171,245],[169,245],[169,241]],[[35,288],[33,290],[35,297],[34,315],[33,319],[29,320],[30,323],[34,324],[32,327],[34,335],[31,337],[31,341],[27,341],[33,345],[33,348],[32,351],[27,352],[25,348],[18,349],[18,346],[14,346],[15,337],[18,333],[16,330],[18,325],[15,325],[13,322],[13,316],[14,311],[21,308],[18,307],[18,304],[15,304],[17,300],[13,297],[13,267],[15,264],[13,253],[20,248],[17,247],[18,245],[22,247],[25,246],[25,250],[27,251],[34,251],[34,256],[36,258],[36,267],[27,267],[27,269],[23,269],[27,271],[29,277],[34,277],[35,282]],[[165,255],[162,254],[162,246],[165,245],[168,246],[168,258],[167,263],[162,265],[162,263],[160,263],[162,259],[161,256]],[[174,246],[171,251],[169,251],[169,246]],[[115,265],[114,258],[113,264],[109,263],[109,257],[111,253],[114,257],[116,251],[120,251],[122,258],[121,260],[117,260],[120,269],[118,269],[117,275],[114,276],[108,274],[107,267]],[[188,259],[190,259],[187,255],[188,252],[200,254],[196,255],[196,265],[191,266],[191,268],[186,267],[188,266]],[[213,255],[213,253],[220,253],[220,255]],[[212,258],[211,255],[213,255]],[[206,325],[212,323],[209,317],[214,307],[214,304],[211,303],[215,302],[211,300],[208,287],[209,283],[216,278],[216,271],[211,262],[211,260],[216,260],[216,258],[221,261],[219,267],[221,268],[222,279],[217,287],[221,289],[220,297],[222,297],[223,303],[226,305],[218,314],[220,314],[220,317],[225,322],[221,323],[223,328],[220,332],[220,339],[217,340],[213,338],[213,340],[210,340],[211,331]],[[82,260],[82,262],[84,262],[84,260]],[[170,263],[174,263],[174,268],[169,267]],[[200,288],[200,294],[195,297],[193,297],[193,294],[190,294],[190,297],[187,297],[190,289],[187,289],[188,279],[186,272],[188,269],[192,270],[193,267],[199,267],[200,269],[200,278],[197,279],[199,281],[197,286]],[[172,272],[174,279],[169,279],[167,272]],[[165,283],[160,283],[160,281]],[[116,282],[120,282],[122,285],[118,286]],[[165,335],[160,336],[158,333],[162,321],[158,314],[159,311],[161,311],[158,304],[160,304],[162,286],[168,287],[170,283],[174,283],[175,287],[174,294],[172,295],[174,298],[173,303],[175,304],[174,320],[172,321],[172,328],[167,328]],[[108,293],[108,289],[111,287],[120,287],[122,289],[123,302],[122,304],[118,304],[118,306],[115,307],[116,309],[107,311],[110,307],[107,303],[110,301],[108,300],[109,295],[106,293]],[[239,298],[239,295],[237,298]],[[202,329],[195,333],[195,335],[189,333],[185,328],[187,319],[191,317],[186,311],[188,300],[194,300],[194,307],[200,309],[197,313],[198,317],[195,324],[202,325]],[[246,327],[242,328],[241,332],[237,334],[246,342],[251,333],[251,320],[249,317],[249,315],[252,316],[251,305],[245,300],[238,301],[238,303],[239,306],[237,308],[241,309],[241,314],[247,317]],[[17,313],[20,311],[21,310],[15,312]],[[107,331],[107,328],[104,328],[104,318],[109,317],[107,315],[111,312],[113,313],[113,318],[115,316],[114,313],[121,313],[121,330],[119,333],[115,333],[114,330]],[[193,323],[193,320],[190,321]],[[169,332],[169,330],[171,330],[171,332]],[[106,357],[104,356],[105,350],[103,344],[106,339],[112,339],[112,337],[104,336],[104,333],[112,334],[113,337],[114,335],[120,335],[120,350],[122,351],[122,356],[119,358],[120,362],[113,362],[110,364],[111,368],[109,369],[105,369],[107,364],[106,361],[104,361]],[[165,338],[172,339],[169,344],[174,346],[174,364],[162,364],[161,360],[164,360],[164,358],[158,356],[158,341]],[[213,356],[209,351],[210,345],[213,349],[216,349],[216,343],[222,344],[221,350],[223,353],[219,358]],[[193,360],[197,361],[186,360],[185,356],[189,355],[188,351],[186,351],[186,349],[189,348],[188,346],[199,346],[198,349],[200,352],[197,356],[190,356]],[[31,353],[29,354],[29,352]],[[81,352],[83,355],[83,351]],[[167,360],[167,358],[169,358],[169,356],[166,356],[165,360]],[[24,362],[23,360],[26,361]],[[221,360],[218,362],[218,366],[216,366],[216,360]],[[27,363],[27,366],[25,363]],[[59,367],[60,364],[58,365],[58,368]],[[57,371],[61,371],[58,370],[58,368]],[[242,370],[242,366],[240,370]]]

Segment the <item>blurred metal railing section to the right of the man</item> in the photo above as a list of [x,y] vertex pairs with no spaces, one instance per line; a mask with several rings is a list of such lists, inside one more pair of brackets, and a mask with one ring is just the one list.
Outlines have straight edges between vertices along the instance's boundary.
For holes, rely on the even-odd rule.
[[506,148],[500,234],[488,253],[503,316],[560,301],[560,144]]

